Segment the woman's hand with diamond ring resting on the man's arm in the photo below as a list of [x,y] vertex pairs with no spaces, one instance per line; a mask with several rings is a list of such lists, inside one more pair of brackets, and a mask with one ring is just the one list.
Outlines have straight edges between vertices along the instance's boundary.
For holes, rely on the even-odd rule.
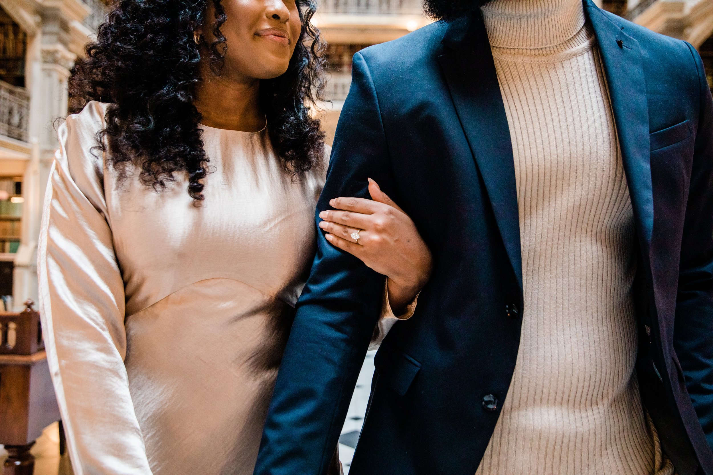
[[[319,227],[327,241],[389,277],[389,303],[398,315],[431,276],[431,251],[409,215],[369,178],[371,199],[334,198]],[[358,239],[357,239],[358,236]]]

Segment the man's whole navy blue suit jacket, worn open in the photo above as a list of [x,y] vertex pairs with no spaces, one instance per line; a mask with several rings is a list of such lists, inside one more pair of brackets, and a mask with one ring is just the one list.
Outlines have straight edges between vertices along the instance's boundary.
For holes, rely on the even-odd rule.
[[[688,43],[589,0],[585,10],[635,215],[641,397],[678,474],[713,475],[713,108],[703,65]],[[434,272],[376,355],[351,474],[473,475],[528,311],[511,137],[479,13],[356,53],[317,212],[334,197],[368,197],[367,177],[414,219]],[[324,473],[383,286],[319,233],[256,475]],[[498,399],[495,411],[485,395]]]

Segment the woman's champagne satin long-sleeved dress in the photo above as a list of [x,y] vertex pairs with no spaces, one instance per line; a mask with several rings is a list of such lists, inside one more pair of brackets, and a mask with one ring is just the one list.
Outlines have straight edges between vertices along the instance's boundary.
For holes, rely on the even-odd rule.
[[48,361],[77,475],[250,475],[314,256],[325,167],[285,173],[265,131],[202,127],[200,207],[120,180],[106,104],[59,129],[39,242]]

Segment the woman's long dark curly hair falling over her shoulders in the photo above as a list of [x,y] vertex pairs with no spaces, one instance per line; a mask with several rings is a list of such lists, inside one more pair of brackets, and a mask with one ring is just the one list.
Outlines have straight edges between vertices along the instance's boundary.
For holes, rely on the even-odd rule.
[[[208,2],[215,6],[215,41],[197,45],[193,32],[205,19]],[[321,98],[324,42],[310,24],[314,0],[297,0],[302,33],[287,72],[260,80],[260,104],[267,115],[267,131],[284,169],[294,175],[322,163],[324,133],[310,115],[309,104]],[[203,150],[193,105],[199,82],[201,51],[209,55],[216,75],[232,47],[220,27],[227,20],[222,0],[117,0],[96,41],[86,46],[69,81],[70,113],[90,100],[111,103],[106,127],[98,132],[98,149],[120,178],[126,166],[140,167],[140,180],[159,191],[175,174],[188,175],[188,194],[203,199],[201,180],[209,157]],[[201,47],[202,46],[202,47]],[[235,47],[239,48],[239,45]]]

